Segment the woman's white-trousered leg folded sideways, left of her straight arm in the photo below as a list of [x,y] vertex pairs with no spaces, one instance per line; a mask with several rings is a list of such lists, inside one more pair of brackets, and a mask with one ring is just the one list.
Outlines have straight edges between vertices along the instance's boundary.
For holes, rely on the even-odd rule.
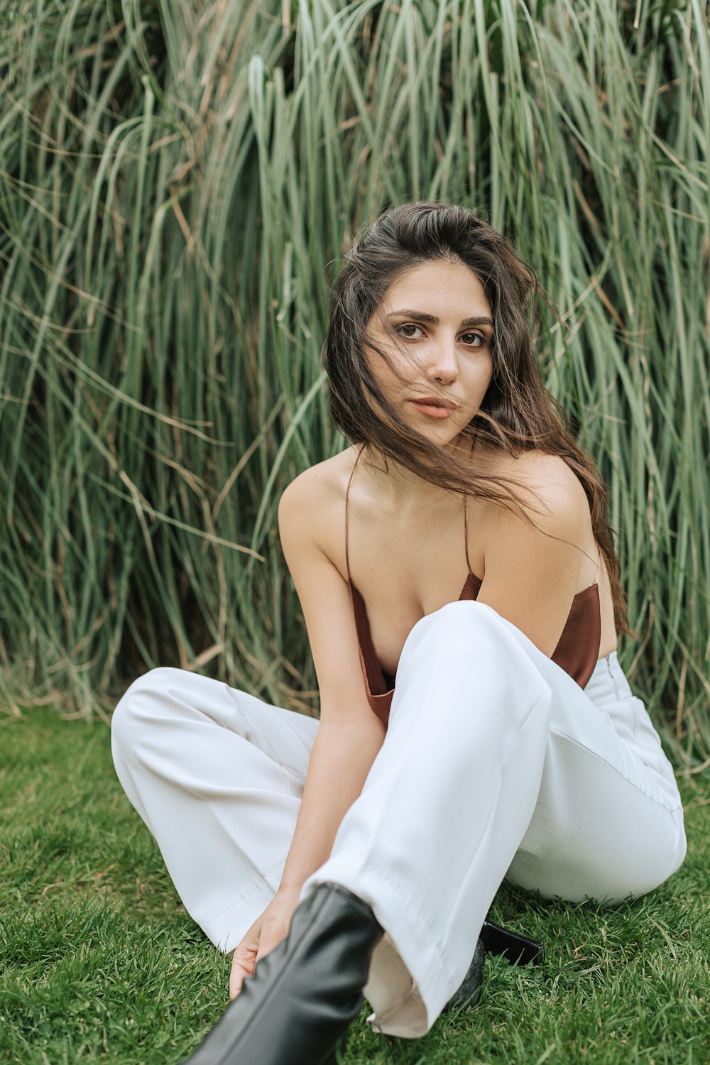
[[135,681],[114,711],[118,779],[185,908],[225,952],[279,886],[317,727],[169,668]]

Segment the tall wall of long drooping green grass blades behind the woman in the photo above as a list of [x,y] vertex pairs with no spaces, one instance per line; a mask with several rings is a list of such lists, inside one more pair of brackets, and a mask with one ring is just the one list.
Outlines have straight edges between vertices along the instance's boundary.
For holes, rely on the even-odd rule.
[[413,197],[513,237],[610,485],[678,760],[710,765],[710,49],[699,0],[4,0],[3,698],[144,669],[315,708],[276,534],[340,449],[325,278]]

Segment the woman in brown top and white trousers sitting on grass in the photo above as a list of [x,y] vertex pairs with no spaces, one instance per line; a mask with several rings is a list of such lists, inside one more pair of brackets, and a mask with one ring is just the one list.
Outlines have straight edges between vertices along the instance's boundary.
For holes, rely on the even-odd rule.
[[542,384],[535,297],[463,208],[361,235],[325,345],[352,446],[279,508],[319,722],[172,669],[119,703],[119,779],[234,951],[195,1065],[334,1062],[363,988],[381,1031],[424,1034],[503,878],[612,903],[682,862],[673,770],[616,659],[605,491]]

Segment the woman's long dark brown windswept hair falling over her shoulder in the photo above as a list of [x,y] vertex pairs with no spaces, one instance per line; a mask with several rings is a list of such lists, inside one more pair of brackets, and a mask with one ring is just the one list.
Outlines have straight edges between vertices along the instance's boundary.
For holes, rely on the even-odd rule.
[[523,486],[475,473],[451,449],[408,426],[378,388],[365,358],[368,347],[392,366],[386,351],[375,348],[367,337],[370,318],[399,275],[440,260],[468,266],[493,310],[493,378],[462,436],[470,438],[472,447],[489,443],[514,457],[525,450],[557,455],[574,471],[587,493],[594,538],[609,573],[616,627],[630,633],[601,476],[574,440],[535,358],[532,326],[544,293],[531,267],[474,211],[435,202],[407,203],[386,211],[353,241],[333,285],[324,346],[336,426],[352,443],[365,443],[379,453],[385,465],[392,459],[432,485],[522,509],[516,489]]

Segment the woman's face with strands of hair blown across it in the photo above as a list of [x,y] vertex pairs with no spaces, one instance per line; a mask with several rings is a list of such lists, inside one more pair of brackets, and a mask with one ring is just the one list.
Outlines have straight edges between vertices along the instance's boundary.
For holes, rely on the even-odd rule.
[[365,348],[392,407],[432,443],[452,443],[478,412],[493,376],[493,312],[476,274],[439,260],[412,266],[387,290],[367,335],[397,372]]

